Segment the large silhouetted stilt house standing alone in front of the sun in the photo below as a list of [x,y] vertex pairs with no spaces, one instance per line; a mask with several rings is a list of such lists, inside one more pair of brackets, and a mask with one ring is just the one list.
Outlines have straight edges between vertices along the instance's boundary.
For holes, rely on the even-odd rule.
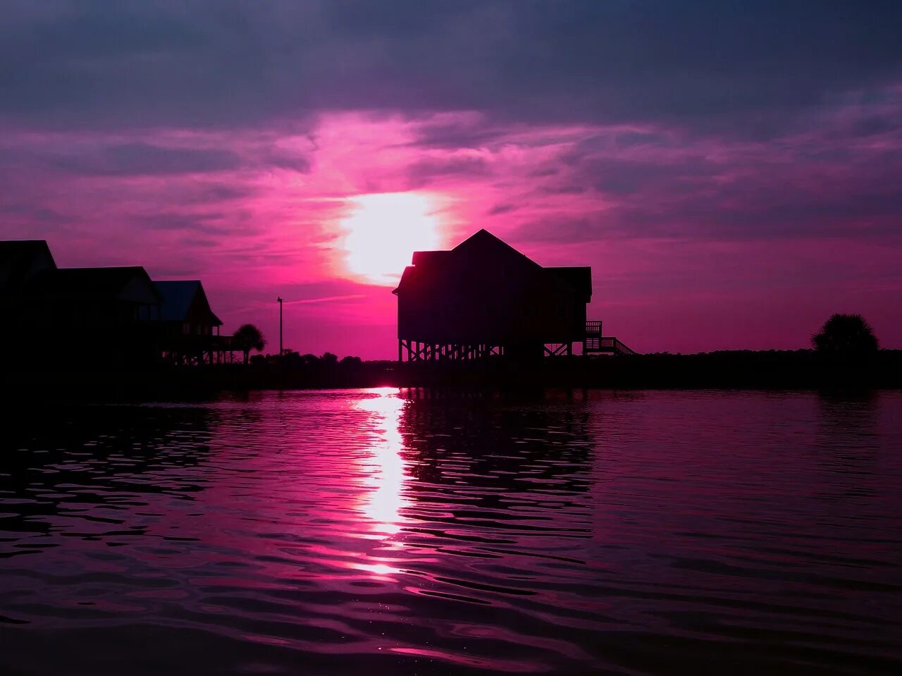
[[487,230],[415,252],[392,293],[399,361],[632,352],[586,320],[591,267],[542,267]]

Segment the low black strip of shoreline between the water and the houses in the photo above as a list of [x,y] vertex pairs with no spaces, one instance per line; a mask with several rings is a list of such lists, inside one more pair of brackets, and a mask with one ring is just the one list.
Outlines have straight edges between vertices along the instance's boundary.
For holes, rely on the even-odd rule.
[[205,398],[220,392],[355,387],[461,389],[897,389],[902,350],[867,360],[838,361],[812,350],[667,353],[632,357],[558,357],[525,367],[486,362],[350,361],[284,368],[258,359],[251,366],[118,369],[6,374],[6,391],[33,402]]

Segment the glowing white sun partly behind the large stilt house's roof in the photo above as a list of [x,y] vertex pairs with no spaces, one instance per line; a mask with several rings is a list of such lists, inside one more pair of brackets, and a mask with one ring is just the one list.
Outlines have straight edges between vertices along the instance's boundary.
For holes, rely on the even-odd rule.
[[414,251],[437,248],[437,206],[429,195],[382,192],[349,199],[342,221],[349,271],[369,282],[397,282]]

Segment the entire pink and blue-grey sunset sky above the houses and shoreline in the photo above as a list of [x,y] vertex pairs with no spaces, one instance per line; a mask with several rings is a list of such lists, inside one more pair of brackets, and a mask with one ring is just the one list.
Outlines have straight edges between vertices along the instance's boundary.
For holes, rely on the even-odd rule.
[[902,347],[902,3],[5,2],[0,237],[392,357],[414,249],[593,266],[642,352]]

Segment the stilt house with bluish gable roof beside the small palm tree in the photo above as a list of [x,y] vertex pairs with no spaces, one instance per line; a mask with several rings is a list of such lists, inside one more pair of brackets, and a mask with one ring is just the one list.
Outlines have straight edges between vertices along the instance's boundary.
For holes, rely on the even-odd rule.
[[231,336],[220,336],[216,317],[199,280],[153,282],[162,296],[157,340],[164,360],[191,365],[232,357]]

